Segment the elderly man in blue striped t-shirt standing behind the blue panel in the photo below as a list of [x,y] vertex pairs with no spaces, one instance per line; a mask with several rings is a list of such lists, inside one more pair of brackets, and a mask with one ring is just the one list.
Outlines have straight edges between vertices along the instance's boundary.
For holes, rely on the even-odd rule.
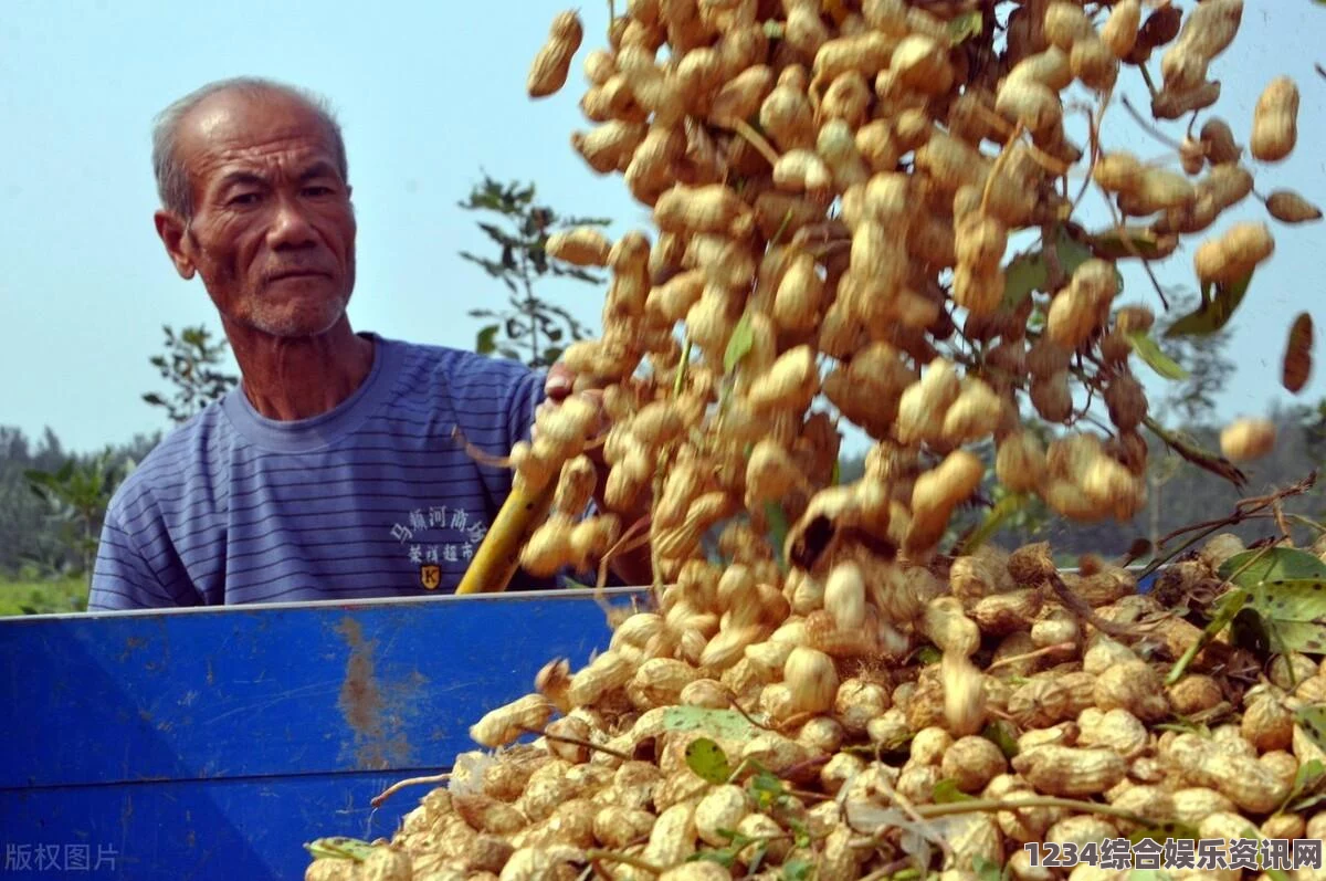
[[318,100],[204,86],[162,114],[152,163],[156,232],[243,378],[119,487],[89,609],[452,592],[511,490],[453,429],[505,456],[568,373],[351,330],[346,151]]

